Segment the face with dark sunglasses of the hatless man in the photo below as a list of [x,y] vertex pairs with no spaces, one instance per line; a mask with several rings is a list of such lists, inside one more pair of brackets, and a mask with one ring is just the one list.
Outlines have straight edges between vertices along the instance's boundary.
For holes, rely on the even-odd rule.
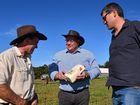
[[108,29],[113,29],[115,25],[115,18],[114,18],[114,12],[103,12],[102,19],[104,24],[108,27]]

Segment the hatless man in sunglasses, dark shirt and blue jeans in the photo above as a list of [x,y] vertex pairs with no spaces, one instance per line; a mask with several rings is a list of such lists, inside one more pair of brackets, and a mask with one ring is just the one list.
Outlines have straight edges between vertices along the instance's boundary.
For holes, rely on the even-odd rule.
[[140,22],[125,20],[117,3],[107,4],[101,16],[113,30],[107,81],[113,105],[140,105]]

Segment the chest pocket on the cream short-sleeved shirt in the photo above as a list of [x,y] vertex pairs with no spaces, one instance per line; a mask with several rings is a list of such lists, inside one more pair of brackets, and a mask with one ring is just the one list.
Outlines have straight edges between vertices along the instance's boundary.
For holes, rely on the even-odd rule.
[[16,69],[16,78],[19,82],[24,82],[28,80],[28,69],[27,68],[17,68]]

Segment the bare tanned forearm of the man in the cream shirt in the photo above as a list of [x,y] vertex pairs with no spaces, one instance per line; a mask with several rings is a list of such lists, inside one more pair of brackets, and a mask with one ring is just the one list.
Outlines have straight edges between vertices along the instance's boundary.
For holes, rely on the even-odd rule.
[[14,93],[10,87],[5,84],[0,85],[0,98],[15,105],[28,105],[26,100]]

